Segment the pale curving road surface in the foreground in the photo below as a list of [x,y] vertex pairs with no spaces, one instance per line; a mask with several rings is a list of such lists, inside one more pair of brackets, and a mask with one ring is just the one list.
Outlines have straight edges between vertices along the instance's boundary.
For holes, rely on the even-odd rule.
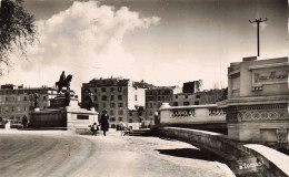
[[[182,153],[191,158],[183,158]],[[196,158],[193,158],[196,157]],[[233,176],[196,147],[157,137],[76,136],[66,132],[0,132],[1,177]]]

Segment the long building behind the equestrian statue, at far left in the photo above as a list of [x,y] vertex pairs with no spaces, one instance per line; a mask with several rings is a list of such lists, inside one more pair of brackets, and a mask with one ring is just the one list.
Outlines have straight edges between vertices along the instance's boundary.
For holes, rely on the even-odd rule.
[[46,110],[49,100],[53,98],[57,91],[51,87],[23,87],[12,84],[1,85],[0,88],[0,122],[22,121],[23,116],[29,119],[29,113],[33,108],[33,93],[39,94],[39,108]]

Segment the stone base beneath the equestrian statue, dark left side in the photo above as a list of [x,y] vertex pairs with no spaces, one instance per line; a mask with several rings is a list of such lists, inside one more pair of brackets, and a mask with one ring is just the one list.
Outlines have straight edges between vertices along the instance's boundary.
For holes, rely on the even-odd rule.
[[31,113],[30,124],[34,128],[68,129],[76,134],[90,134],[90,125],[98,123],[98,112],[80,108],[78,100],[64,96],[50,100],[50,107]]

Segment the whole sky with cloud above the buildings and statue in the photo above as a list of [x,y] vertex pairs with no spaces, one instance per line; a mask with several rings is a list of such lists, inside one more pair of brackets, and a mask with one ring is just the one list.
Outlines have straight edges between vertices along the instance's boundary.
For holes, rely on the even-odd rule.
[[226,87],[231,62],[288,56],[287,0],[24,0],[38,41],[0,84],[53,86],[62,71],[71,88],[94,77],[122,76],[159,86],[202,80]]

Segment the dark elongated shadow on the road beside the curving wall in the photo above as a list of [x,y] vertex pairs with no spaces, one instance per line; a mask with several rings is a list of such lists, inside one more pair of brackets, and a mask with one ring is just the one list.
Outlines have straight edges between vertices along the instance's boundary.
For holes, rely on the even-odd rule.
[[195,158],[195,159],[202,159],[208,162],[219,162],[219,163],[226,163],[222,158],[219,156],[193,148],[175,148],[175,149],[157,149],[160,154],[175,156],[175,157],[185,157],[185,158]]

